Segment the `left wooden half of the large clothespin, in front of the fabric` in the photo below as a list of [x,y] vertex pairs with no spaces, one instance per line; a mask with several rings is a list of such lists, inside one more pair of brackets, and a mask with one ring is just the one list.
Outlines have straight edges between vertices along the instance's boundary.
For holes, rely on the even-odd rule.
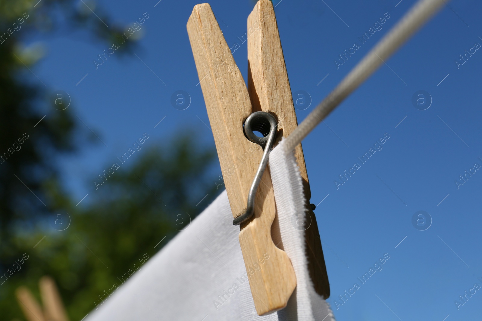
[[[248,90],[211,7],[194,7],[187,33],[201,81],[229,204],[234,217],[246,208],[262,148],[244,136],[242,125],[253,112]],[[296,286],[295,271],[271,239],[276,207],[269,171],[256,193],[254,217],[241,226],[239,240],[258,315],[284,308]],[[260,269],[256,268],[260,267]]]

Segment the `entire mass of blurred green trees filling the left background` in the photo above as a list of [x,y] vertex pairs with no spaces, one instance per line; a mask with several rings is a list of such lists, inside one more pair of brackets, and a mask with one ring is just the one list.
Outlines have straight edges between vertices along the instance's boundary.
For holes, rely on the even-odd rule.
[[[203,204],[221,190],[206,178],[215,152],[201,151],[187,133],[142,152],[99,187],[85,207],[70,200],[55,158],[75,152],[75,142],[86,134],[77,128],[73,107],[64,113],[41,109],[43,86],[21,77],[40,52],[20,44],[28,34],[79,28],[96,41],[112,43],[124,28],[96,8],[98,19],[93,8],[87,0],[0,0],[0,32],[8,33],[0,35],[0,275],[7,273],[0,280],[0,321],[22,318],[15,289],[27,285],[39,298],[37,283],[45,274],[58,284],[70,318],[82,319],[114,283],[120,285],[136,266],[142,268],[143,259],[188,225],[206,193]],[[10,33],[24,13],[28,18],[21,32]],[[129,53],[134,45],[128,41],[121,50]],[[59,218],[64,225],[54,226]],[[40,239],[41,246],[33,248]],[[19,265],[24,253],[28,259]]]

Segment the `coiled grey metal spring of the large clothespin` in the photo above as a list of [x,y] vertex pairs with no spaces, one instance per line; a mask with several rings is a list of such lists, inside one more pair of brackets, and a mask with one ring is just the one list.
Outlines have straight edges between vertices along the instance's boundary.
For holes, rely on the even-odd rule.
[[[251,184],[251,188],[249,189],[248,205],[240,216],[233,219],[233,225],[240,225],[242,222],[250,219],[254,214],[254,198],[256,196],[256,191],[258,189],[259,182],[261,181],[261,177],[263,176],[266,165],[268,164],[269,152],[273,148],[277,129],[278,123],[276,122],[276,118],[268,112],[254,112],[248,116],[244,122],[244,134],[250,141],[261,145],[261,147],[264,149],[264,153],[261,161],[259,162],[256,175],[254,176],[253,184]],[[263,137],[256,136],[254,131],[260,132]]]

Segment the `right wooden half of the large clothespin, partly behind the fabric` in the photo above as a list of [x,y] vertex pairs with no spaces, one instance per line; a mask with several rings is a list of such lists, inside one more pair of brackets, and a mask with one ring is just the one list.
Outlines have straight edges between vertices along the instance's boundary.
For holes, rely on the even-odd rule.
[[[281,139],[281,136],[286,137],[291,134],[298,123],[271,1],[260,0],[256,3],[248,17],[247,30],[248,91],[251,104],[254,111],[262,110],[277,117],[278,130],[282,134],[278,137]],[[295,157],[303,179],[307,208],[309,208],[311,192],[301,144],[295,148]],[[317,293],[328,298],[330,284],[318,225],[311,210],[307,211],[307,223],[310,224],[305,231],[308,270]]]

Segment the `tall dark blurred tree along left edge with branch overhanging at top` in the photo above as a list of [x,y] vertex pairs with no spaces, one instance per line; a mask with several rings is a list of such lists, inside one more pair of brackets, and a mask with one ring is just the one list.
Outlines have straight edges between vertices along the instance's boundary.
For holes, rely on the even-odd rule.
[[[81,1],[80,3],[83,3]],[[92,1],[87,1],[93,5]],[[87,4],[86,4],[87,5]],[[80,8],[82,10],[80,10]],[[63,13],[60,19],[58,13]],[[41,56],[40,48],[22,49],[22,39],[32,33],[83,27],[98,41],[111,43],[123,30],[97,10],[107,28],[92,12],[72,0],[0,0],[0,253],[8,263],[16,225],[50,213],[51,200],[44,184],[58,179],[52,155],[75,150],[76,124],[72,109],[65,113],[42,110],[43,86],[30,84],[23,72]],[[22,21],[22,23],[20,23]],[[127,41],[122,50],[129,51]],[[43,116],[45,119],[42,120]],[[42,120],[42,121],[40,121]],[[20,152],[21,150],[21,152]]]

